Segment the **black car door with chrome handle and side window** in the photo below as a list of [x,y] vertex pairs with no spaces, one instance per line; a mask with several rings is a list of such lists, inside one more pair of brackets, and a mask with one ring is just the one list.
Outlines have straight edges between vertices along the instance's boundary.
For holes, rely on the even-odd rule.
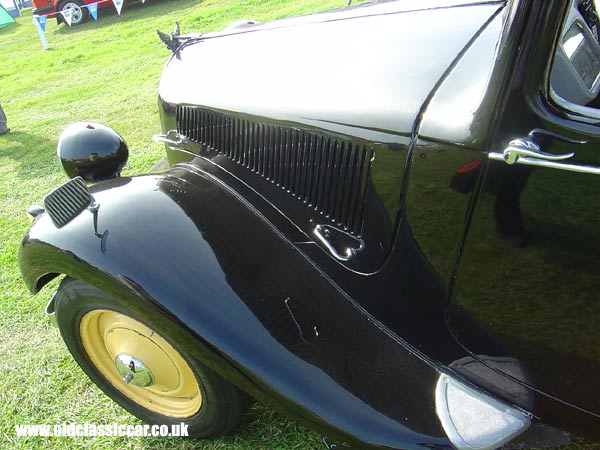
[[[572,87],[560,83],[579,83],[590,98],[600,88],[600,45],[582,3],[547,2],[531,18],[455,273],[449,322],[475,358],[537,391],[542,419],[583,429],[584,410],[598,430],[600,110],[597,100],[558,94]],[[587,60],[573,61],[577,52]],[[565,58],[572,72],[557,76]],[[501,343],[493,353],[469,338],[465,312]],[[577,409],[557,408],[553,398]]]

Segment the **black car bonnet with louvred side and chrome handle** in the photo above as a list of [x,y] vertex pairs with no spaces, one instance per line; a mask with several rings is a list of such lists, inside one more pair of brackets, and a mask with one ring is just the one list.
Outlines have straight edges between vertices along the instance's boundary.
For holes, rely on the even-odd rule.
[[[340,230],[351,247],[362,240],[346,267],[380,269],[391,250],[415,120],[454,60],[502,9],[497,2],[407,5],[357,8],[335,20],[309,16],[183,45],[164,69],[160,110],[165,133],[176,129],[193,142],[168,150],[171,163],[210,158],[282,209],[305,240],[314,240],[317,224]],[[227,92],[215,90],[217,83]],[[256,142],[256,155],[238,151],[247,145],[236,141],[240,135]],[[286,153],[278,157],[281,148]]]

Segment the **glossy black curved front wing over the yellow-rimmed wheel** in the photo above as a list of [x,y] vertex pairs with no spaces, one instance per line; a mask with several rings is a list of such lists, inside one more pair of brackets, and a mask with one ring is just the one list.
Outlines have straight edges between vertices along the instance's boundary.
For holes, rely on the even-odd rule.
[[[247,202],[194,166],[92,189],[100,204],[19,251],[32,292],[53,274],[126,302],[250,394],[359,447],[449,446],[439,372],[377,326]],[[101,235],[105,235],[102,243]],[[379,370],[384,369],[384,370]]]

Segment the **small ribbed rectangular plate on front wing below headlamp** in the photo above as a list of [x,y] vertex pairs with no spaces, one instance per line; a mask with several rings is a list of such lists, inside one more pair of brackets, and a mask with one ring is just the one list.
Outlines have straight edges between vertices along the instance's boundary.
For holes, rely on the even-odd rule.
[[44,197],[44,206],[57,228],[64,227],[92,203],[83,178],[76,177]]

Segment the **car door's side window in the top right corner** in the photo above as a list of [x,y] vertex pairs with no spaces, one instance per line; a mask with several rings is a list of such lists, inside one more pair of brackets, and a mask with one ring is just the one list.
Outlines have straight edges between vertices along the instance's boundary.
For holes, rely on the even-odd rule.
[[[574,112],[600,108],[598,0],[573,0],[562,26],[551,73],[551,96]],[[598,113],[597,113],[598,114]],[[593,114],[596,115],[596,114]]]

